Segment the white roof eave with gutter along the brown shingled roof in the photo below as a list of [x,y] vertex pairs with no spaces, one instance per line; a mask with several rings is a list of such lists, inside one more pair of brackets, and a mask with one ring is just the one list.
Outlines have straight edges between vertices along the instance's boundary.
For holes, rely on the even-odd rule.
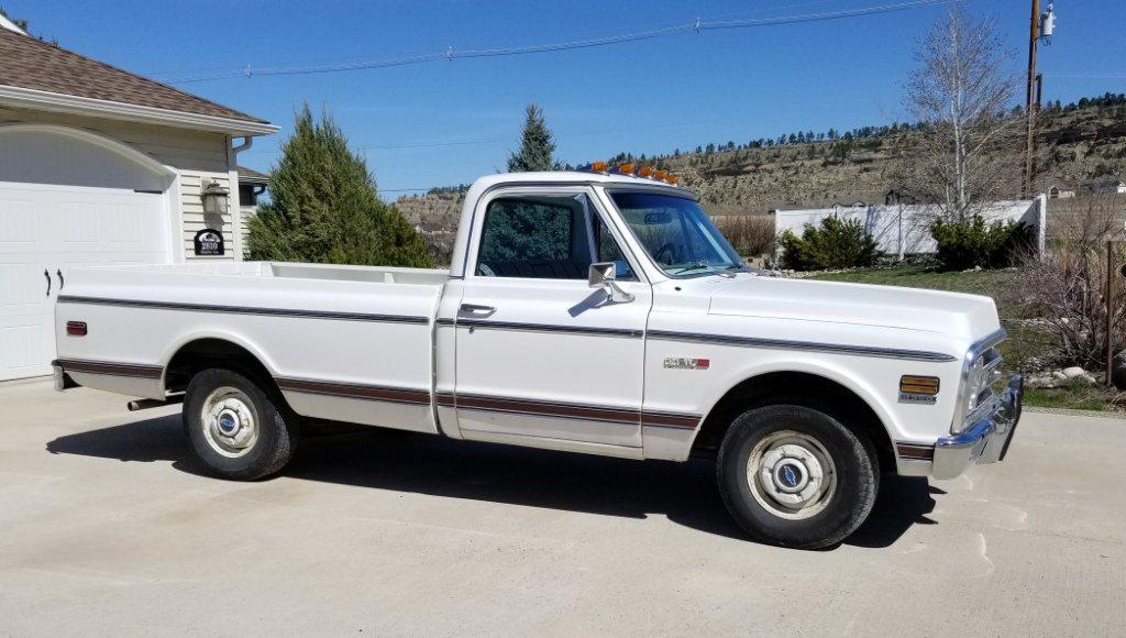
[[0,104],[23,108],[38,108],[59,113],[126,119],[129,122],[163,124],[166,126],[194,129],[197,131],[214,131],[232,135],[256,136],[278,132],[277,126],[266,122],[185,113],[182,110],[170,110],[137,104],[25,89],[23,87],[0,86]]

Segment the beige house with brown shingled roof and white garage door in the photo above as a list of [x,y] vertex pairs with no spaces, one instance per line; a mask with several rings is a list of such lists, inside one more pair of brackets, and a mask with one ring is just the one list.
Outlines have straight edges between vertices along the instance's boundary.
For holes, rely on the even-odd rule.
[[[0,61],[5,380],[51,373],[70,266],[241,259],[235,158],[277,127],[9,20]],[[205,230],[223,241],[197,242]]]

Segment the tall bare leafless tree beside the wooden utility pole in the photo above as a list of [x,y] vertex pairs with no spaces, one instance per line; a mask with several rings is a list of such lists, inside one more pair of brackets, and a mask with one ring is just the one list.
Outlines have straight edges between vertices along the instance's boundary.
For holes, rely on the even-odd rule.
[[897,179],[946,220],[966,220],[1013,190],[1020,121],[1009,103],[1017,79],[1002,64],[993,24],[960,7],[919,43],[906,106],[924,124]]

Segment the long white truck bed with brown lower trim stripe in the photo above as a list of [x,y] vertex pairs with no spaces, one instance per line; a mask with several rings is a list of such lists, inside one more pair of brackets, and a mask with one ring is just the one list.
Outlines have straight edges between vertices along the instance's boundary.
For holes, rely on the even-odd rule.
[[[178,353],[222,339],[260,361],[303,416],[432,432],[448,278],[267,262],[73,268],[55,310],[59,361],[82,386],[163,399]],[[69,321],[88,334],[68,335]],[[381,392],[388,400],[365,400]]]

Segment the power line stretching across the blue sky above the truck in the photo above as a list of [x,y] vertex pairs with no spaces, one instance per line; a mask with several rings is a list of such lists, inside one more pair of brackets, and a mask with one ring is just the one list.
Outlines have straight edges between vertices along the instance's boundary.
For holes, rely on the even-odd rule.
[[504,57],[515,55],[530,55],[535,53],[572,51],[578,48],[593,48],[593,47],[610,46],[615,44],[624,44],[631,42],[642,42],[642,41],[655,39],[660,37],[667,37],[683,33],[695,32],[697,34],[701,34],[708,30],[745,29],[745,28],[777,26],[777,25],[792,25],[797,23],[838,20],[843,18],[872,16],[876,14],[887,14],[893,11],[903,11],[908,9],[931,7],[936,5],[947,5],[951,1],[955,0],[911,0],[908,2],[876,5],[872,7],[863,7],[857,9],[841,9],[837,11],[821,11],[821,12],[801,14],[793,16],[778,16],[772,18],[749,18],[749,19],[730,19],[730,20],[703,20],[700,18],[696,18],[695,20],[687,24],[678,24],[668,27],[660,27],[649,30],[633,32],[618,35],[609,35],[589,39],[557,42],[551,44],[535,44],[535,45],[515,46],[506,48],[476,48],[476,50],[465,50],[465,51],[454,50],[453,46],[449,46],[445,51],[434,52],[434,53],[420,53],[414,55],[401,55],[383,60],[372,60],[361,62],[338,62],[331,64],[315,64],[307,67],[275,67],[275,68],[267,67],[261,69],[254,69],[250,64],[248,64],[244,69],[221,71],[211,74],[179,77],[166,81],[173,85],[184,85],[189,82],[207,82],[227,78],[238,78],[240,76],[247,77],[249,79],[256,76],[303,76],[313,73],[337,73],[343,71],[359,71],[369,69],[387,69],[392,67],[406,67],[412,64],[422,64],[427,62],[438,62],[443,60],[453,62],[455,59],[463,59],[463,57],[474,59],[474,57]]

